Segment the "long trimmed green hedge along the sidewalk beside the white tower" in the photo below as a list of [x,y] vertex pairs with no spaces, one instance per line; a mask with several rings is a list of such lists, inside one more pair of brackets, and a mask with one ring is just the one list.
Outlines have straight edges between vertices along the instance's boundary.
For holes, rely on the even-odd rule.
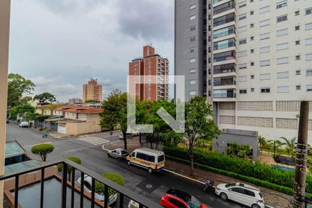
[[[187,149],[164,147],[163,150],[166,156],[169,156],[168,158],[190,164]],[[198,150],[193,151],[193,158],[194,166],[199,168],[257,184],[261,187],[268,187],[276,191],[292,194],[295,171],[279,170],[259,162],[253,164],[248,160],[236,156],[222,155],[213,152],[202,153]],[[312,193],[311,176],[306,176],[306,183],[311,184],[306,187],[306,192]]]

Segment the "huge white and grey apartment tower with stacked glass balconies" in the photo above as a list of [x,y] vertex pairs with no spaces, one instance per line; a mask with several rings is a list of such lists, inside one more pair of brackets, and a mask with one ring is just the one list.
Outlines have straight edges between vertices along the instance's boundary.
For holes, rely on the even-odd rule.
[[295,137],[312,101],[312,1],[175,0],[175,74],[219,128]]

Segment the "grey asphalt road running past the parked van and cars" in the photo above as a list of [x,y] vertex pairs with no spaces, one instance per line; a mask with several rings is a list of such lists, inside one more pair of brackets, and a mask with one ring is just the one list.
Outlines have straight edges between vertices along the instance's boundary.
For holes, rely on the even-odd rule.
[[[28,128],[19,128],[17,123],[7,124],[6,135],[7,141],[17,140],[32,159],[36,159],[38,156],[31,154],[31,147],[35,144],[47,142],[55,147],[53,153],[48,156],[48,162],[75,156],[82,159],[83,166],[96,173],[119,173],[125,179],[125,187],[155,202],[160,201],[164,191],[169,188],[176,188],[191,193],[208,207],[243,207],[235,202],[220,200],[213,191],[203,193],[202,184],[185,180],[165,171],[149,174],[142,168],[128,166],[125,162],[119,162],[114,158],[107,157],[106,152],[101,149],[101,145],[94,146],[77,138],[42,138],[42,134],[39,132]],[[118,137],[112,137],[112,141],[116,139]]]

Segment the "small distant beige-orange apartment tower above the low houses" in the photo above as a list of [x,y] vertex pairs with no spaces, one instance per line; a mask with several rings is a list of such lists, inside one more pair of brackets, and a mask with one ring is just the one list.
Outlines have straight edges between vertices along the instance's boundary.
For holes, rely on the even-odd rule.
[[98,85],[98,80],[91,78],[87,85],[83,85],[83,103],[88,100],[103,101],[102,85]]

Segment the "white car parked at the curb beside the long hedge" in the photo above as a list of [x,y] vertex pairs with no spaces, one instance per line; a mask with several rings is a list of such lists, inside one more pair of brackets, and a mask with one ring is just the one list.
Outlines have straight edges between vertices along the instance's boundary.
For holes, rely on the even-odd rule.
[[218,184],[216,194],[223,200],[233,200],[248,207],[265,207],[260,190],[248,184]]

